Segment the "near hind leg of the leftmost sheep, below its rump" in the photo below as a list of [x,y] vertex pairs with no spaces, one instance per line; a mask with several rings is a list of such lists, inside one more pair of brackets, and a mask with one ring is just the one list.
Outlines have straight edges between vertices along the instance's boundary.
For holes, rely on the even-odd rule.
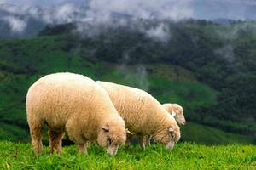
[[42,138],[44,122],[32,122],[29,123],[30,135],[32,138],[32,149],[37,153],[40,153],[43,148]]

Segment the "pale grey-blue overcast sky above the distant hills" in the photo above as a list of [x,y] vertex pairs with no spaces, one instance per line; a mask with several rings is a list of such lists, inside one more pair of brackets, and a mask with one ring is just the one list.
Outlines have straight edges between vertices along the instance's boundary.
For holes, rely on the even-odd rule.
[[89,4],[92,14],[118,12],[145,18],[156,14],[160,18],[256,20],[256,0],[0,0],[0,3],[32,6],[84,3]]

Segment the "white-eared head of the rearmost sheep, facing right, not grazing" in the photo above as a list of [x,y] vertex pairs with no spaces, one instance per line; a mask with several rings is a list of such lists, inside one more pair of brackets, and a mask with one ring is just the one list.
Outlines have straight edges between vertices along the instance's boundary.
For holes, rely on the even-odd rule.
[[163,104],[163,107],[168,111],[180,125],[185,125],[186,120],[183,115],[183,107],[177,104]]

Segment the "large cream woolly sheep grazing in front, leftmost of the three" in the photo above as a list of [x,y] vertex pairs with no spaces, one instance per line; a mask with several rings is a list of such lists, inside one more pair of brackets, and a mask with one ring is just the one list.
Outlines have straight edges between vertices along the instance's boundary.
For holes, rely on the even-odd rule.
[[125,144],[124,120],[108,93],[89,77],[65,72],[40,78],[28,89],[26,115],[37,153],[43,147],[44,123],[49,127],[51,152],[61,154],[65,131],[82,153],[87,153],[88,141],[97,140],[110,156]]

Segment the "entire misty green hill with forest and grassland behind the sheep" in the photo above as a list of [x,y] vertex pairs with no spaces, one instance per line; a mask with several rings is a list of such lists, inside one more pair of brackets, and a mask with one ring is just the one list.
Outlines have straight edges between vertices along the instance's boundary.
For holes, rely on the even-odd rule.
[[1,39],[0,131],[22,129],[20,139],[26,140],[27,88],[45,74],[73,71],[183,105],[191,122],[182,127],[183,140],[255,142],[255,22],[114,24],[47,26],[39,37]]

